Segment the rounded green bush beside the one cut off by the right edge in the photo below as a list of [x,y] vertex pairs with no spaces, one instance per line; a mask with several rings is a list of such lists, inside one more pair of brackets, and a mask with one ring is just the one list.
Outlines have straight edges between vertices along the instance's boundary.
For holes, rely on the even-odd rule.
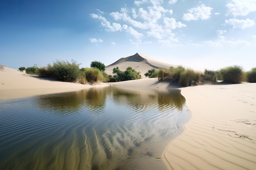
[[246,81],[247,77],[241,66],[229,66],[220,69],[220,76],[223,82],[241,83]]

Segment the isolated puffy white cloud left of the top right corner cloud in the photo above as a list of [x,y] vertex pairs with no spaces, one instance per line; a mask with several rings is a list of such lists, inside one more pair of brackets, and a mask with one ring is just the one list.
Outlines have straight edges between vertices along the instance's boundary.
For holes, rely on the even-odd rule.
[[213,8],[206,7],[204,4],[202,4],[198,7],[188,9],[187,11],[189,13],[183,13],[182,19],[186,20],[186,21],[199,20],[199,19],[201,19],[201,20],[209,19],[212,9]]

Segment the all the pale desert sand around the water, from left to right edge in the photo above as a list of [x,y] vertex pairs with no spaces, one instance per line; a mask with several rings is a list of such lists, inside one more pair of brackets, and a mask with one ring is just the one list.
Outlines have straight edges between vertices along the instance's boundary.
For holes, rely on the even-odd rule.
[[163,152],[163,158],[169,169],[256,169],[255,83],[182,88],[168,82],[158,82],[157,78],[145,78],[90,86],[26,75],[8,67],[0,69],[0,99],[109,85],[144,90],[181,89],[182,95],[186,98],[186,106],[191,111],[191,120],[184,125],[184,132],[171,141]]

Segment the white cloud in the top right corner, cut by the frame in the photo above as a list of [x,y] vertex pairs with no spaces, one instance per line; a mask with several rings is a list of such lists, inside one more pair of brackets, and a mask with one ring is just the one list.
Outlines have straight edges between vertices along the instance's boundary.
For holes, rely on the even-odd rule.
[[245,16],[256,11],[256,0],[232,0],[232,2],[226,4],[227,15]]

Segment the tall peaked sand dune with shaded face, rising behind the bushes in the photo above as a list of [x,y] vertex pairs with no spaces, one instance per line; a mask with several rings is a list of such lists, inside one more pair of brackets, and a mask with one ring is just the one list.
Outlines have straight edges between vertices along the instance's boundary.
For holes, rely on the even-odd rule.
[[136,71],[139,71],[141,73],[140,75],[142,78],[144,78],[145,77],[144,74],[152,68],[158,69],[158,68],[170,68],[171,66],[176,67],[176,65],[159,62],[159,61],[157,61],[153,58],[150,58],[146,55],[143,55],[141,53],[136,53],[135,55],[132,55],[129,57],[120,58],[113,64],[106,66],[105,72],[108,75],[113,75],[112,74],[113,68],[115,68],[117,66],[119,67],[119,69],[121,71],[125,71],[128,66],[131,66]]

